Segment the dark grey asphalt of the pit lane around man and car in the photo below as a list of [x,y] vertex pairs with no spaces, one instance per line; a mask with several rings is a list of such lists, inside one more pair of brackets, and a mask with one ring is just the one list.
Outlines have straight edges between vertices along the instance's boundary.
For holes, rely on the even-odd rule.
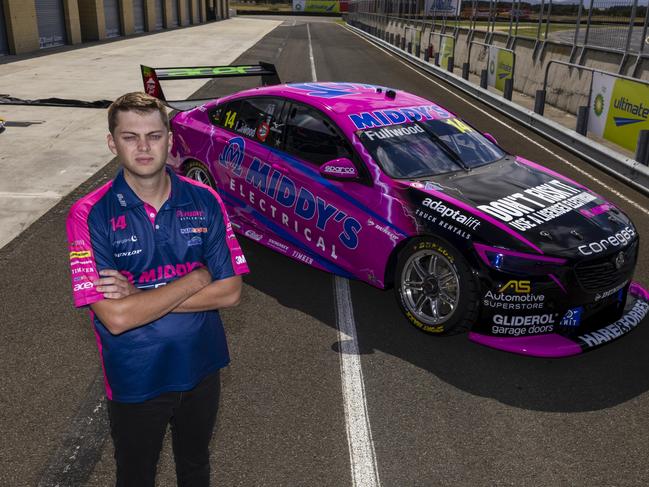
[[[310,81],[307,22],[287,20],[237,62],[275,62],[282,80]],[[319,81],[381,84],[436,101],[510,152],[591,187],[626,211],[642,236],[649,233],[638,209],[649,207],[645,196],[334,22],[309,23],[309,33]],[[197,96],[248,81],[210,82]],[[70,204],[115,167],[113,161],[0,250],[3,485],[114,482],[95,338],[86,312],[71,305],[64,223]],[[352,485],[333,277],[240,240],[252,272],[241,305],[223,312],[233,362],[222,376],[213,484]],[[643,241],[636,279],[645,284],[648,259]],[[536,359],[481,347],[466,335],[424,335],[400,316],[392,294],[351,283],[381,485],[646,485],[647,320],[584,356]],[[175,485],[168,444],[159,485]]]

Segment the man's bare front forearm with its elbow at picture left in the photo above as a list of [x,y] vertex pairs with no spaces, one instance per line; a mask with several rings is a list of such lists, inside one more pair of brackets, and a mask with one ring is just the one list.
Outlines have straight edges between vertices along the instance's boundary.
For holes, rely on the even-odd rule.
[[108,331],[118,335],[174,311],[211,282],[209,271],[199,268],[166,286],[136,292],[121,299],[103,299],[90,307]]

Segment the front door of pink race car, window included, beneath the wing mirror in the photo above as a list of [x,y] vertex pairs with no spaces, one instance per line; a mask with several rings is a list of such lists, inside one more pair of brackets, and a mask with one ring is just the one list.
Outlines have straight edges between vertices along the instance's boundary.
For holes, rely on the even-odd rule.
[[[294,243],[291,256],[373,283],[383,282],[388,256],[399,236],[379,209],[381,191],[332,119],[302,103],[284,107],[281,143],[269,146],[282,235]],[[338,158],[354,162],[358,180],[324,177],[319,168]],[[377,231],[384,229],[384,231]]]

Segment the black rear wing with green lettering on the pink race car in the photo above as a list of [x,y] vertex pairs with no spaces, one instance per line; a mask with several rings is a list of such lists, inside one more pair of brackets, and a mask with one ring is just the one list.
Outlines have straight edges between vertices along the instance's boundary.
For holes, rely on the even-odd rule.
[[202,105],[213,98],[203,100],[175,100],[165,98],[160,81],[199,78],[232,78],[241,76],[261,76],[262,86],[278,85],[281,83],[274,64],[259,62],[259,64],[242,64],[234,66],[196,66],[185,68],[151,68],[140,65],[144,91],[170,108],[175,110],[190,110]]

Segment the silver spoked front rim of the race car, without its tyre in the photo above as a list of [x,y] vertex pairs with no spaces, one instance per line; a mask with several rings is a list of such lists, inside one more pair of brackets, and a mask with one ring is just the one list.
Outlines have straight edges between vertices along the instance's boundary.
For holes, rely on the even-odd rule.
[[401,272],[406,308],[419,321],[439,325],[451,318],[460,301],[460,277],[455,267],[439,252],[415,252]]

